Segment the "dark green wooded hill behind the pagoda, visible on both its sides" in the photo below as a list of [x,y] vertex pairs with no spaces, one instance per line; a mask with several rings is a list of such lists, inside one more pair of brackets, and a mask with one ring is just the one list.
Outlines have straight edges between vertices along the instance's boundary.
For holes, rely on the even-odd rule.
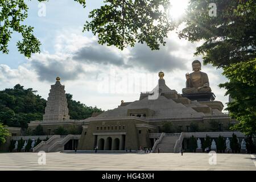
[[[36,94],[32,88],[24,89],[17,84],[13,89],[0,91],[0,122],[13,127],[27,128],[27,123],[42,120],[46,100]],[[85,119],[93,112],[102,111],[97,107],[86,106],[80,101],[72,100],[71,94],[66,94],[71,119]]]

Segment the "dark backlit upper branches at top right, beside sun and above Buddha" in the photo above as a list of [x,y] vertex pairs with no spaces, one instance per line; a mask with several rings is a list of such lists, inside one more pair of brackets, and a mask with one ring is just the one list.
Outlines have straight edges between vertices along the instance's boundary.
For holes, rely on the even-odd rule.
[[[209,16],[212,2],[216,3],[217,16]],[[179,36],[191,42],[205,40],[195,55],[203,55],[204,63],[225,68],[255,58],[255,20],[254,0],[191,0],[186,26]]]

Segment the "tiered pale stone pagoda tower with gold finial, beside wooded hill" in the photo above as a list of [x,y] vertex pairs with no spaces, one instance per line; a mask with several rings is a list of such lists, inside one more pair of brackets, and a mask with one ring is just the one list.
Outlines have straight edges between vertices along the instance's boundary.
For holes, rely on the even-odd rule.
[[69,120],[68,103],[65,86],[60,84],[60,77],[57,77],[55,85],[51,85],[43,121],[64,120]]

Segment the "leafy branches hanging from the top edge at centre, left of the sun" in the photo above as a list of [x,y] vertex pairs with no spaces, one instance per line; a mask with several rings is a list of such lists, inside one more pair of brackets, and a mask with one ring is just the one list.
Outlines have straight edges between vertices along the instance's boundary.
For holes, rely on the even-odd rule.
[[159,43],[164,45],[164,38],[174,30],[174,24],[168,17],[168,0],[104,2],[106,4],[100,9],[90,11],[92,20],[84,26],[84,31],[91,30],[98,36],[100,44],[114,45],[122,50],[134,46],[138,40],[154,50],[159,49]]

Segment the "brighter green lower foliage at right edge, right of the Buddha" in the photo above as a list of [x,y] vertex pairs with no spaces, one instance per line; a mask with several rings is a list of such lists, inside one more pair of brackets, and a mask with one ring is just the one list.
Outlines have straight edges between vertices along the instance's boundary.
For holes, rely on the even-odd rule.
[[224,75],[230,81],[220,86],[233,98],[228,103],[230,116],[240,121],[231,129],[252,136],[256,134],[256,59],[230,65]]

